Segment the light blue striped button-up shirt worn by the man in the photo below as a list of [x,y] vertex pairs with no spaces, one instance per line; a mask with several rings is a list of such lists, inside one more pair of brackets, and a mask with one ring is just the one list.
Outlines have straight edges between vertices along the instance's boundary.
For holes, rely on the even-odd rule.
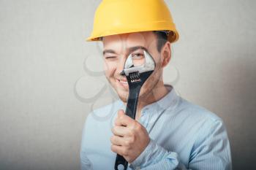
[[[172,88],[159,101],[143,107],[140,124],[151,141],[128,169],[232,169],[225,125],[214,113],[178,96]],[[116,152],[110,149],[111,128],[122,101],[99,108],[86,118],[80,148],[83,170],[113,170]]]

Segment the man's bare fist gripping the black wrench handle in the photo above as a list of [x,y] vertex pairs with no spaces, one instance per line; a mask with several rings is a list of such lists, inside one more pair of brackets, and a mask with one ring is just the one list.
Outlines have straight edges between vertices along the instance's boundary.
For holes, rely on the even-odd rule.
[[111,150],[122,155],[129,163],[132,163],[150,142],[146,128],[125,115],[124,110],[118,110],[118,117],[111,131],[114,134],[110,138]]

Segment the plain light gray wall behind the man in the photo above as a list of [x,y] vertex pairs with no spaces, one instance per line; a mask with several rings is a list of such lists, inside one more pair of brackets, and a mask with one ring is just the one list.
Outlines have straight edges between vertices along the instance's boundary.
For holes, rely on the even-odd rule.
[[[180,39],[165,82],[222,117],[233,169],[256,169],[256,1],[166,2]],[[116,98],[85,42],[98,4],[0,0],[0,169],[80,169],[86,116]]]

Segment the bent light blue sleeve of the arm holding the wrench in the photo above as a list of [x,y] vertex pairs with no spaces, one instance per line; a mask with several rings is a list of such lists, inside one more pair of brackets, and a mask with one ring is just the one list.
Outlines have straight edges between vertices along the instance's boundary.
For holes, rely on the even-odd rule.
[[131,169],[141,170],[230,170],[232,169],[230,144],[221,120],[214,121],[205,131],[200,131],[192,148],[188,165],[189,167],[186,167],[178,160],[176,152],[165,150],[153,139],[138,158],[129,163]]

